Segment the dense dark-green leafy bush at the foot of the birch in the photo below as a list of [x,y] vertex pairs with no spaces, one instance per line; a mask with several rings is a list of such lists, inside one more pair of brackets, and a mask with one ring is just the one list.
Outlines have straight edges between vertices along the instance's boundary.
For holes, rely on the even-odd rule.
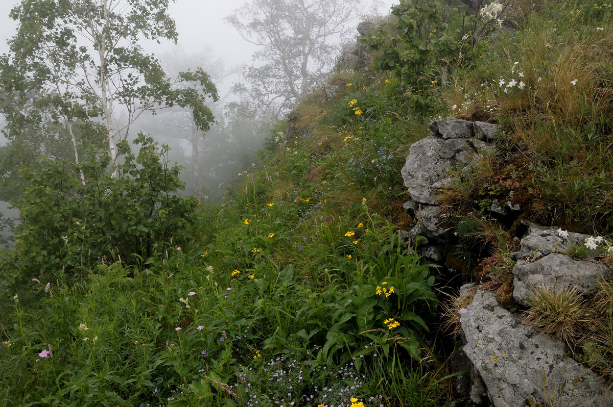
[[120,144],[120,179],[107,173],[105,154],[74,169],[83,171],[85,185],[62,162],[43,159],[39,168],[24,171],[29,185],[14,203],[21,224],[15,248],[3,260],[6,277],[23,283],[59,271],[82,275],[105,258],[142,265],[159,242],[185,241],[196,200],[177,195],[183,184],[179,168],[165,159],[167,146],[142,134],[134,144],[140,145],[138,155]]

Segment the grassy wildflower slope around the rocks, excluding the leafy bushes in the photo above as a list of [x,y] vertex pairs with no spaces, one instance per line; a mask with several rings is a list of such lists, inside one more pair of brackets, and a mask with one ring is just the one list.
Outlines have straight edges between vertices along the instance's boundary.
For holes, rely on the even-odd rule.
[[[509,136],[443,192],[467,280],[508,294],[517,223],[487,209],[510,190],[522,219],[610,230],[610,4],[514,6],[516,34],[434,81],[427,113],[392,73],[337,72],[339,94],[301,103],[223,202],[202,207],[191,247],[166,242],[145,270],[99,266],[13,301],[0,405],[446,403],[433,294],[445,280],[397,233],[411,222],[400,168],[427,122],[492,118]],[[525,86],[504,92],[513,79]],[[471,250],[483,242],[485,263]]]

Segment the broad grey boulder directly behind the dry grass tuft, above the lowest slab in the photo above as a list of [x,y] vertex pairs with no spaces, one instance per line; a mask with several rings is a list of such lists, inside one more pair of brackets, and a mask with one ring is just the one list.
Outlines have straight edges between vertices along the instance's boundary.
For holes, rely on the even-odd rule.
[[611,271],[593,260],[574,260],[560,253],[550,253],[533,263],[517,261],[513,267],[513,299],[528,305],[533,290],[545,285],[547,289],[577,287],[579,293],[589,294],[596,289],[596,279]]

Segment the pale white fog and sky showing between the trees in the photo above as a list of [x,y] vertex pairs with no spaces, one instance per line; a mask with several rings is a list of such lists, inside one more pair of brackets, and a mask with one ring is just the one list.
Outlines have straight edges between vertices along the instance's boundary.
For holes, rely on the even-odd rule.
[[[394,2],[397,0],[373,0],[362,2],[360,7],[364,7],[364,15],[386,15]],[[17,22],[9,18],[9,13],[18,3],[17,0],[0,1],[0,53],[9,50],[6,41],[15,34]],[[232,85],[242,81],[243,68],[253,63],[251,56],[259,49],[246,42],[234,27],[224,21],[244,3],[243,0],[171,2],[169,14],[177,24],[177,45],[169,41],[160,44],[151,40],[142,42],[145,50],[161,61],[169,75],[203,67],[218,88],[220,100],[208,103],[216,123],[204,136],[196,129],[191,114],[180,108],[155,116],[143,115],[131,127],[132,137],[143,131],[172,148],[170,160],[185,167],[181,173],[186,182],[185,193],[201,199],[219,198],[237,173],[256,162],[256,151],[268,135],[265,120],[254,121],[251,118],[242,122],[238,118],[226,117],[227,103],[242,102],[238,95],[232,94]],[[352,21],[356,35],[354,28],[357,23],[359,19]],[[116,113],[115,120],[120,122],[121,114]],[[4,137],[0,139],[1,144],[6,143]]]

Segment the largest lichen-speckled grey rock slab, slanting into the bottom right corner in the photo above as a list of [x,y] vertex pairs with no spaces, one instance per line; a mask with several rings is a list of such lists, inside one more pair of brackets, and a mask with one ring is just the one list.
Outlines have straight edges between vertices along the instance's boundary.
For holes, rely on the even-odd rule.
[[[495,407],[527,406],[530,398],[542,402],[543,373],[549,395],[555,400],[566,384],[560,405],[613,406],[613,394],[603,401],[607,387],[604,379],[566,357],[557,340],[522,325],[518,316],[498,304],[492,292],[478,290],[473,302],[460,310],[459,317],[466,344],[464,353],[481,376]],[[553,394],[554,383],[557,394]]]

